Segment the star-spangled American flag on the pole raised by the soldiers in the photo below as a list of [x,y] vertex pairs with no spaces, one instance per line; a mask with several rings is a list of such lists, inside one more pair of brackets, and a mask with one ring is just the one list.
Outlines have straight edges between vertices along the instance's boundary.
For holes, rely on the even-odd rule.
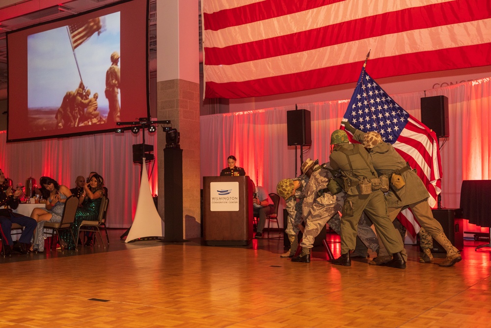
[[[409,165],[417,170],[430,193],[428,203],[435,207],[441,191],[440,151],[435,132],[399,106],[368,75],[365,68],[361,70],[343,120],[348,120],[363,132],[377,131],[383,141],[392,144]],[[419,225],[411,211],[401,211],[398,218],[414,237],[419,231]]]

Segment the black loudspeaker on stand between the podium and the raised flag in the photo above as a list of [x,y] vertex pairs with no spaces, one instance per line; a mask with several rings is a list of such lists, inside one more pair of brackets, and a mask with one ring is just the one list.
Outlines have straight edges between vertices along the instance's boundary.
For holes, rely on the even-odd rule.
[[306,109],[286,112],[288,146],[312,145],[310,112]]

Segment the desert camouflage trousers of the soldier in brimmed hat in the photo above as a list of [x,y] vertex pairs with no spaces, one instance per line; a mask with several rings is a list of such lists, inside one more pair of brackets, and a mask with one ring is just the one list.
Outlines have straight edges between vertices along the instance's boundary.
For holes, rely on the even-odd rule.
[[314,203],[312,205],[311,214],[306,218],[305,231],[300,246],[304,248],[312,248],[314,239],[319,235],[322,228],[326,226],[327,221],[338,211],[336,204],[323,205]]

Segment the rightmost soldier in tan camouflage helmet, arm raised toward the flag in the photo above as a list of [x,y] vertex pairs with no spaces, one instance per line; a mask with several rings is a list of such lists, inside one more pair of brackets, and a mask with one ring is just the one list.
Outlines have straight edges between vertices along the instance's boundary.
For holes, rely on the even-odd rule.
[[363,142],[363,147],[369,149],[373,166],[380,175],[392,177],[396,174],[403,180],[400,185],[392,183],[391,189],[385,195],[390,220],[393,221],[401,209],[409,207],[419,224],[447,251],[446,259],[439,266],[451,267],[461,261],[459,250],[448,240],[441,224],[433,217],[427,201],[430,194],[416,172],[391,144],[383,142],[379,133],[374,131],[364,133],[356,130],[348,122],[343,123],[347,130],[354,132],[354,139]]

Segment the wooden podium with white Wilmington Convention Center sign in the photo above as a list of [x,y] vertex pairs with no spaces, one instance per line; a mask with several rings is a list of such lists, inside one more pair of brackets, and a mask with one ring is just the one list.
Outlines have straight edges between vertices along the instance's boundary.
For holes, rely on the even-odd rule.
[[252,240],[252,181],[203,177],[203,232],[210,246],[243,246]]

